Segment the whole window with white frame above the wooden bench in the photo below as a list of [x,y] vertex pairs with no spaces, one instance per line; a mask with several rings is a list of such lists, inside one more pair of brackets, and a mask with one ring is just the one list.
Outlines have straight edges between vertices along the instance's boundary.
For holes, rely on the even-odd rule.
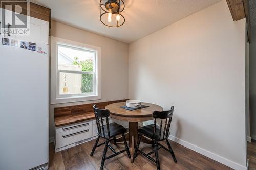
[[99,51],[99,47],[52,38],[56,75],[51,74],[55,77],[51,103],[100,99]]

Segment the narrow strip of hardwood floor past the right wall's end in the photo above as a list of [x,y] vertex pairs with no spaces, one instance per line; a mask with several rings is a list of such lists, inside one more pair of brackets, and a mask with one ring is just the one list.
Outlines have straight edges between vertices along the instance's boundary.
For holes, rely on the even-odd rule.
[[256,170],[256,141],[247,142],[247,154],[249,159],[249,170]]

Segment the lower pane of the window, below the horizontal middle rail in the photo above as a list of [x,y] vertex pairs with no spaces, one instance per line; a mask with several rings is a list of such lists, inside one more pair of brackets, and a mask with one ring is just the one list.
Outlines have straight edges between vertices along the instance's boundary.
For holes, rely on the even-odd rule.
[[59,73],[59,94],[93,93],[94,74]]

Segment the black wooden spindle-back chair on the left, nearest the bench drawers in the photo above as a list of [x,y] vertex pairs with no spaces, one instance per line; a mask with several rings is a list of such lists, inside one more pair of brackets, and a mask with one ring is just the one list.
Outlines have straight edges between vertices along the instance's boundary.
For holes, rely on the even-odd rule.
[[[102,170],[104,167],[104,163],[106,159],[112,158],[116,155],[119,155],[123,153],[124,151],[127,152],[127,155],[129,158],[131,158],[130,151],[125,139],[124,133],[127,132],[127,130],[119,125],[116,124],[115,122],[109,124],[109,116],[110,116],[110,111],[108,109],[99,109],[97,108],[96,105],[93,106],[94,114],[95,114],[95,120],[97,124],[97,133],[98,133],[98,138],[96,139],[96,142],[93,146],[91,156],[93,156],[93,153],[95,149],[103,144],[105,144],[104,152],[103,152],[103,157],[101,160],[101,166],[100,169]],[[105,120],[104,120],[105,118]],[[114,140],[114,143],[116,144],[116,135],[122,135],[123,136],[123,142],[125,145],[125,150],[116,152],[110,145],[110,141]],[[101,143],[98,145],[99,139],[104,138],[106,141],[104,143]],[[108,157],[106,157],[106,152],[108,151],[108,148],[114,153]]]

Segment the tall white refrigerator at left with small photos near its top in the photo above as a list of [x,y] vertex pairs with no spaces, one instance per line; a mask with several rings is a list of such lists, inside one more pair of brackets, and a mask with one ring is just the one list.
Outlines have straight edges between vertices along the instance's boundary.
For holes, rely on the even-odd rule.
[[49,162],[49,46],[36,43],[33,51],[21,48],[20,41],[11,46],[11,38],[9,45],[3,45],[0,38],[0,169],[45,169]]

